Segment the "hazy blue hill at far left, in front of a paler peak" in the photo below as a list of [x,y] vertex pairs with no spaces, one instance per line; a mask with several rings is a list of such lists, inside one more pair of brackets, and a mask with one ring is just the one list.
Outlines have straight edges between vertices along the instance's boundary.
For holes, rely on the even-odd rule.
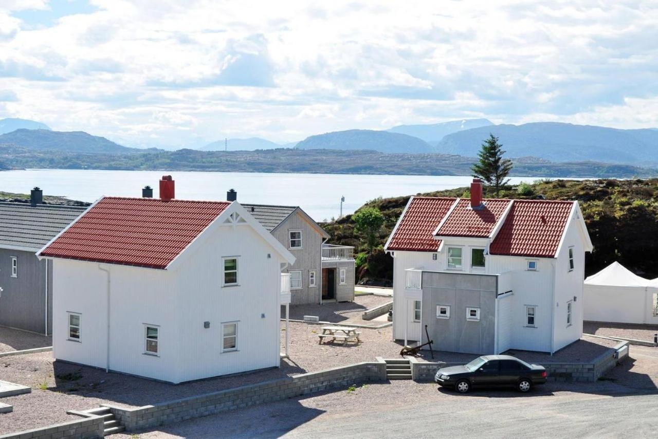
[[15,130],[0,136],[0,144],[16,145],[29,149],[52,149],[71,153],[126,154],[143,152],[128,148],[104,137],[91,136],[83,131]]

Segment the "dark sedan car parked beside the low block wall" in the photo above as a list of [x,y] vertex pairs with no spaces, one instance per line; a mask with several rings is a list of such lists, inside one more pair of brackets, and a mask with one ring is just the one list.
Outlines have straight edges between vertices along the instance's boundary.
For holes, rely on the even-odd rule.
[[475,387],[515,387],[528,392],[535,384],[546,382],[546,369],[529,365],[511,355],[483,355],[463,366],[444,367],[434,376],[443,387],[466,393]]

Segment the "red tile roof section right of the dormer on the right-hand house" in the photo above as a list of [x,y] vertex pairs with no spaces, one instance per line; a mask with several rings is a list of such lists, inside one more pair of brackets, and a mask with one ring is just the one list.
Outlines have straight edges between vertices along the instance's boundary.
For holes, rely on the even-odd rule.
[[555,257],[574,201],[514,201],[489,247],[492,255]]

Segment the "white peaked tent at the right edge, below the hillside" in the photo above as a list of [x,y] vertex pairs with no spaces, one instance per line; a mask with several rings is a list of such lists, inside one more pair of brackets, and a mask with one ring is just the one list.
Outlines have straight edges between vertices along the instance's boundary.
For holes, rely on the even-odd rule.
[[584,319],[658,324],[658,279],[642,278],[611,263],[585,279]]

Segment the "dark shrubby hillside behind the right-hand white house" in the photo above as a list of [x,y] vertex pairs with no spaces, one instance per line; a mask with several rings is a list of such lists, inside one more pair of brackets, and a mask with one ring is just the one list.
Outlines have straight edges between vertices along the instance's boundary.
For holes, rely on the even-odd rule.
[[[507,186],[501,198],[528,199],[542,194],[546,199],[577,200],[594,244],[586,256],[586,276],[619,261],[647,278],[658,277],[658,178],[648,180],[540,180]],[[468,188],[417,194],[426,196],[468,196]],[[355,234],[351,215],[322,224],[332,244],[357,247],[357,275],[362,283],[390,284],[393,260],[384,255],[395,222],[409,201],[409,195],[374,199],[365,204],[376,207],[386,218],[378,234],[378,249],[367,257],[363,237]],[[364,206],[364,207],[365,207]],[[363,209],[363,207],[361,208]]]

